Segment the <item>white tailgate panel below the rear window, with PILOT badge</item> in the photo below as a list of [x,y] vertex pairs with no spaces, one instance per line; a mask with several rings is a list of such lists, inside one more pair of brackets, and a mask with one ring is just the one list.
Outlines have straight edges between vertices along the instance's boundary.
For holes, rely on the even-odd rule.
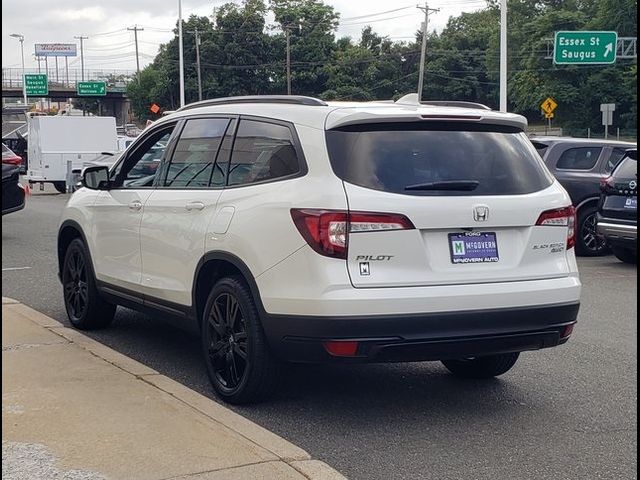
[[[509,282],[569,274],[567,228],[536,226],[540,205],[560,206],[554,186],[520,198],[415,198],[345,184],[352,211],[407,216],[413,230],[349,235],[348,269],[355,287],[403,287]],[[488,218],[474,220],[476,207]],[[487,210],[484,210],[487,209]]]

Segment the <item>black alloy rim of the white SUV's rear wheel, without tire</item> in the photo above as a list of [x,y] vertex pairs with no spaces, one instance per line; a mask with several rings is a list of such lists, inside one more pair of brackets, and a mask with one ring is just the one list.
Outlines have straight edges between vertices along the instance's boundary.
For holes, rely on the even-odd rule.
[[213,301],[208,318],[209,358],[217,382],[229,392],[247,373],[247,327],[238,299],[221,293]]

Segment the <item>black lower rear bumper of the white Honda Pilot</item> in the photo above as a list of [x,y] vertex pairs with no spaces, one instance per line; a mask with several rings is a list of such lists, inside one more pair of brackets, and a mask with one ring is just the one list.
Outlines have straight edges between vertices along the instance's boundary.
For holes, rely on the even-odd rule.
[[[537,350],[564,343],[579,303],[446,313],[311,317],[266,315],[279,357],[294,362],[443,360]],[[355,357],[334,357],[323,342],[358,341]]]

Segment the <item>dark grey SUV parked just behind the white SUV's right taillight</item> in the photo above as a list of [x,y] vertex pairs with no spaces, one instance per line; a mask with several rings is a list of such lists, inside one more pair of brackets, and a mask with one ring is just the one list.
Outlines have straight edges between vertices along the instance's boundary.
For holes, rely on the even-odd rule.
[[609,253],[607,242],[596,230],[600,182],[611,174],[624,152],[635,144],[571,137],[534,136],[531,140],[576,208],[576,254],[596,256]]

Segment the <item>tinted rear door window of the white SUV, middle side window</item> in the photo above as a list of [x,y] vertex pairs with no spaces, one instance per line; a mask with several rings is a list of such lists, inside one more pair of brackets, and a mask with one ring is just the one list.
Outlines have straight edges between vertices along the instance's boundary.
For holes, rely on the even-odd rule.
[[167,169],[164,186],[208,187],[216,164],[222,137],[229,125],[227,118],[187,120]]

